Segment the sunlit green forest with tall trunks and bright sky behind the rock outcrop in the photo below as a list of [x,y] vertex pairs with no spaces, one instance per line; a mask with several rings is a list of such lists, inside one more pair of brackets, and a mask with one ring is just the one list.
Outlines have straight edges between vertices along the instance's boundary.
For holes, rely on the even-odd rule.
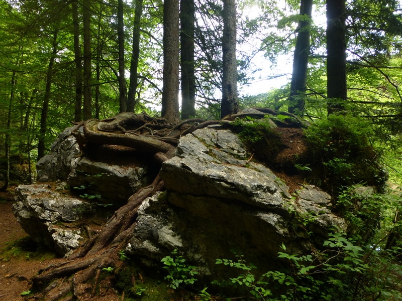
[[[306,136],[323,162],[323,154],[335,149],[323,163],[332,178],[322,186],[337,200],[348,199],[350,187],[362,182],[385,192],[370,199],[370,212],[381,212],[385,230],[366,241],[367,250],[371,256],[374,241],[392,250],[378,260],[388,260],[384,265],[402,279],[402,269],[393,265],[400,263],[402,229],[399,1],[2,0],[0,16],[3,191],[35,182],[35,164],[57,135],[82,121],[133,112],[173,127],[183,120],[221,120],[247,107],[269,108],[278,118],[321,124]],[[324,140],[334,128],[339,131],[332,140]],[[356,149],[366,154],[361,164],[352,162]],[[374,153],[381,173],[352,181],[360,165],[372,167],[368,157]],[[300,164],[301,174],[310,170]],[[353,211],[351,204],[342,206]],[[359,252],[348,253],[353,272],[361,268],[369,277]],[[322,283],[314,283],[318,291]],[[360,299],[402,299],[400,291],[392,287],[389,295],[381,288]]]

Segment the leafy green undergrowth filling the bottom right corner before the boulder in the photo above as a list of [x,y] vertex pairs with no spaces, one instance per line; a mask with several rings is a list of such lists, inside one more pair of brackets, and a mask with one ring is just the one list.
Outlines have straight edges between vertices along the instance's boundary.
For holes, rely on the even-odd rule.
[[[268,271],[261,276],[256,267],[237,253],[237,260],[217,259],[217,264],[242,270],[229,280],[235,286],[247,287],[253,299],[264,301],[290,300],[402,300],[400,288],[402,269],[393,257],[380,254],[372,247],[361,247],[343,233],[334,233],[324,242],[323,250],[312,254],[278,252],[288,268]],[[391,275],[389,273],[392,272]],[[225,281],[214,281],[227,285]]]

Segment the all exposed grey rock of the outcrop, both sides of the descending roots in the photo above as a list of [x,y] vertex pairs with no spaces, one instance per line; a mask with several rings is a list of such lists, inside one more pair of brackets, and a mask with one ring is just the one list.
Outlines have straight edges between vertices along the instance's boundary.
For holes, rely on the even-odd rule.
[[[144,164],[147,160],[130,149],[96,150],[128,154],[109,156],[114,160],[96,154],[76,157],[79,149],[70,133],[66,129],[51,154],[38,163],[39,180],[65,180],[70,188],[81,187],[121,205],[155,175]],[[242,251],[247,261],[264,270],[279,264],[282,243],[291,253],[309,252],[320,246],[331,228],[346,229],[345,221],[331,213],[328,194],[306,186],[291,196],[271,170],[249,159],[237,135],[220,126],[181,137],[176,156],[160,171],[166,191],[140,206],[126,251],[160,268],[160,259],[177,248],[204,275],[219,277],[225,272],[215,260],[233,258],[231,249]],[[65,192],[39,184],[19,186],[14,205],[24,229],[63,256],[82,240],[79,228],[63,228],[60,222],[77,221],[94,208],[94,203]],[[307,226],[300,226],[300,219],[309,220]],[[308,231],[313,234],[308,236]]]

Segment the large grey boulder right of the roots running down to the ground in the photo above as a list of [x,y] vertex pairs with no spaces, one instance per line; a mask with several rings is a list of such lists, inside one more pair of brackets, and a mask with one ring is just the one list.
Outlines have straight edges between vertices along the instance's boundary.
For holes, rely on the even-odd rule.
[[219,277],[224,272],[215,259],[233,258],[231,249],[262,270],[278,263],[282,243],[292,253],[310,251],[314,240],[295,223],[300,215],[313,218],[309,230],[317,230],[318,242],[332,227],[346,229],[331,214],[328,194],[306,186],[295,201],[280,179],[247,157],[228,130],[199,129],[182,137],[177,156],[162,165],[167,192],[142,204],[127,251],[157,265],[177,248],[206,275]]

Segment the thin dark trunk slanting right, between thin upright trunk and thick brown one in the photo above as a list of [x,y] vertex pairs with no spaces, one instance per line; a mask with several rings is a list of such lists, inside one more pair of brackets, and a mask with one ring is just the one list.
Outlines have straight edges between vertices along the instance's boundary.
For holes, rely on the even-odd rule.
[[129,93],[127,96],[127,111],[134,112],[135,108],[135,94],[138,87],[138,59],[140,57],[140,29],[141,29],[141,16],[142,16],[142,3],[143,0],[137,0],[135,5],[134,14],[134,29],[133,29],[133,51],[131,54],[130,65],[130,85]]

